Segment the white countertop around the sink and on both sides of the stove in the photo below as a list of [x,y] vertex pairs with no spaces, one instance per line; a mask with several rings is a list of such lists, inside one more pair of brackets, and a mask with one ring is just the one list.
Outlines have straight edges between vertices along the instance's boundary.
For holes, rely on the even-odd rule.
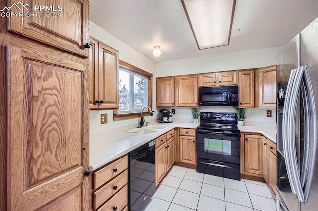
[[[196,129],[199,124],[173,122],[165,125],[169,127],[157,134],[125,132],[126,130],[131,129],[127,128],[127,126],[90,134],[89,170],[94,171],[143,144],[156,139],[173,128]],[[276,127],[239,126],[239,130],[241,132],[261,133],[266,138],[276,143]]]

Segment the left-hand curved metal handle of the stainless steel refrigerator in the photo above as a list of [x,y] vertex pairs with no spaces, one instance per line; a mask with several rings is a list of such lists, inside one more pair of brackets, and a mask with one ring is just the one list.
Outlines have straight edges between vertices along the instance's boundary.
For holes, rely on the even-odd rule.
[[[284,153],[285,153],[286,170],[287,170],[287,175],[289,178],[292,192],[294,194],[297,194],[299,201],[305,202],[303,187],[300,180],[300,171],[298,169],[298,164],[297,164],[296,147],[295,147],[296,107],[297,107],[298,92],[300,91],[301,82],[303,79],[304,66],[298,67],[296,71],[292,70],[292,74],[294,72],[295,72],[295,77],[294,77],[293,83],[291,84],[292,86],[289,90],[289,95],[288,97],[286,96],[286,98],[288,99],[288,105],[286,106],[288,108],[286,113],[284,111],[285,125],[283,121],[283,128],[286,128],[285,129],[286,132],[285,134],[283,133],[283,147],[284,147]],[[287,91],[286,91],[286,95],[287,95]]]

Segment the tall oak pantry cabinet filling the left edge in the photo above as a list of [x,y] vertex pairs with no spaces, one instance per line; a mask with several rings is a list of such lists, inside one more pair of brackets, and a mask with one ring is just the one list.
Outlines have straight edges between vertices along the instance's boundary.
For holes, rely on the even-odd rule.
[[0,19],[0,210],[91,209],[88,1],[59,4],[54,19]]

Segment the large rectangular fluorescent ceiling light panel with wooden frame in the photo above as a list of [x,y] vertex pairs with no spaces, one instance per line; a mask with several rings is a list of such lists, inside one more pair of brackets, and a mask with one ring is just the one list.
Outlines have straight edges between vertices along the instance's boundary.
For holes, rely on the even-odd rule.
[[229,45],[236,0],[181,0],[200,49]]

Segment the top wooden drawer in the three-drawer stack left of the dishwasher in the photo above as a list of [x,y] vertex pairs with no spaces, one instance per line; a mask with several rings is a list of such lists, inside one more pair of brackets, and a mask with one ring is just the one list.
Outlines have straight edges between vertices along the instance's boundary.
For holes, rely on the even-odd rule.
[[127,156],[125,156],[100,169],[99,171],[94,172],[94,190],[127,169],[127,165],[128,159]]

